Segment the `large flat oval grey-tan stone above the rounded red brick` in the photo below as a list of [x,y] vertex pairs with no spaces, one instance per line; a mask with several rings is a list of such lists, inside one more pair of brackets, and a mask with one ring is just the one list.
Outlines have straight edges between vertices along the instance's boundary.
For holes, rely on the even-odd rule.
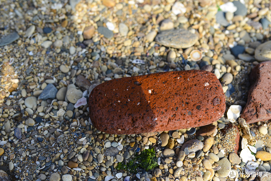
[[172,29],[159,33],[155,41],[166,47],[185,49],[192,47],[198,41],[198,36],[185,29]]

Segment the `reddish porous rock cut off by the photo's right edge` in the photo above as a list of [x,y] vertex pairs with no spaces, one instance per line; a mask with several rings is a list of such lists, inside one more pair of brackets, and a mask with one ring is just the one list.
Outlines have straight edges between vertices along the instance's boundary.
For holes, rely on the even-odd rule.
[[271,61],[257,64],[250,73],[250,90],[241,118],[247,123],[271,119]]

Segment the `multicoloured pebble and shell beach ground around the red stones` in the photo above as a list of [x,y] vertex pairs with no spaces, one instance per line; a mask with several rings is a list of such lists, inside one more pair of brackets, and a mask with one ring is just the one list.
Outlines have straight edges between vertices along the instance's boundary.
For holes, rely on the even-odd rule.
[[[244,128],[227,115],[231,105],[244,108],[250,70],[271,59],[269,0],[0,0],[0,9],[2,180],[266,178],[254,171],[270,179],[270,121],[249,124],[252,139],[239,146]],[[223,83],[220,120],[133,135],[92,126],[88,95],[96,85],[191,69],[213,72]],[[152,171],[116,169],[160,146]]]

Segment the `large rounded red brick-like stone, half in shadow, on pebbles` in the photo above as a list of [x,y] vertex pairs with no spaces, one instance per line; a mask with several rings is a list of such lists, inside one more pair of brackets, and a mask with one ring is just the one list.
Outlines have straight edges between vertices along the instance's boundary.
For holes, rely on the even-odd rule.
[[89,95],[89,116],[100,131],[137,134],[198,127],[225,112],[216,76],[203,70],[161,72],[113,79]]

